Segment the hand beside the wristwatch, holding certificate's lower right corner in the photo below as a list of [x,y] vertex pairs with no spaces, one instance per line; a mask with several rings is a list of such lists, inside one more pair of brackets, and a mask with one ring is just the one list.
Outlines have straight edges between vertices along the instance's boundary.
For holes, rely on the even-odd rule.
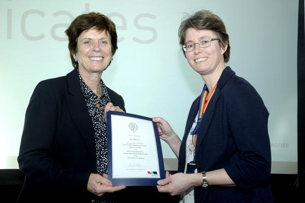
[[198,174],[184,174],[177,173],[170,175],[166,172],[166,178],[159,180],[157,183],[157,189],[159,192],[168,192],[171,195],[181,194],[191,187],[200,185],[202,178],[201,173]]

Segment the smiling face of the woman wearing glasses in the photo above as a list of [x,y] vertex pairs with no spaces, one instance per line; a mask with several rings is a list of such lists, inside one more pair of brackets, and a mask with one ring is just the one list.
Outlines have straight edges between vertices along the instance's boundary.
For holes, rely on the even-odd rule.
[[[185,43],[197,43],[203,38],[218,37],[216,33],[211,30],[189,28],[186,31]],[[225,69],[223,54],[225,53],[226,48],[227,46],[222,48],[218,40],[212,41],[211,45],[205,48],[201,48],[196,44],[193,51],[186,52],[186,57],[191,67],[197,73],[201,76],[209,75]]]

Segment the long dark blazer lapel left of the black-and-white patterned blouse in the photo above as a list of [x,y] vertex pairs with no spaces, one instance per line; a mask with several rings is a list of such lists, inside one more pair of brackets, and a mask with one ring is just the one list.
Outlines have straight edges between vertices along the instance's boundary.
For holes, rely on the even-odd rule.
[[92,159],[94,160],[93,162],[96,164],[95,131],[88,113],[86,101],[83,97],[76,69],[67,74],[67,80],[68,92],[66,94],[71,117],[81,132]]

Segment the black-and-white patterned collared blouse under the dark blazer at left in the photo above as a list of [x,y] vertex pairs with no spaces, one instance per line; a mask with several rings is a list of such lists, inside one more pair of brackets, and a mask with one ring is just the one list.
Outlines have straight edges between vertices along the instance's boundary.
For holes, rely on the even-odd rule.
[[[101,97],[98,98],[98,95],[88,87],[79,73],[78,77],[95,131],[97,173],[100,175],[103,175],[104,173],[107,174],[107,125],[104,119],[104,109],[106,104],[110,102],[110,97],[102,79],[100,83]],[[100,104],[100,107],[97,107],[97,104]],[[115,202],[114,194],[105,193],[100,197],[95,197],[91,202]]]

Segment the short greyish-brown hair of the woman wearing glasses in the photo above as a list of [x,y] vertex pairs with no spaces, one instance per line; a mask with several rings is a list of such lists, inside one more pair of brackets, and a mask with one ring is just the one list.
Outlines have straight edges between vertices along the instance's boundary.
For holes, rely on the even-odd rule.
[[229,35],[226,31],[226,27],[224,22],[220,19],[219,16],[213,14],[207,10],[200,10],[194,13],[193,15],[188,15],[187,18],[182,19],[179,30],[179,44],[182,46],[185,44],[186,32],[189,28],[195,28],[198,30],[207,29],[214,31],[217,37],[220,39],[221,47],[225,47],[228,45],[226,52],[224,53],[224,61],[228,62],[230,58],[230,43],[229,43]]

